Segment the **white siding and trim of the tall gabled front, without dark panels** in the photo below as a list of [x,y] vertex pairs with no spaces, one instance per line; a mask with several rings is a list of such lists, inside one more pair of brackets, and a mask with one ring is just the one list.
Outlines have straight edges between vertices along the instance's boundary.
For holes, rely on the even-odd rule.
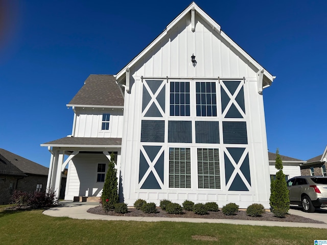
[[[187,15],[186,15],[187,16]],[[197,16],[197,15],[196,15]],[[194,67],[191,62],[191,56],[196,56],[197,64]],[[148,202],[154,202],[159,205],[159,200],[169,199],[173,202],[182,203],[184,200],[191,200],[195,203],[216,201],[219,206],[230,202],[236,202],[241,208],[246,208],[253,203],[261,203],[265,208],[269,208],[270,179],[268,165],[268,150],[266,126],[264,118],[263,97],[258,93],[258,81],[256,78],[256,68],[241,56],[238,51],[229,45],[218,33],[213,31],[201,19],[196,18],[195,32],[191,31],[189,17],[182,18],[174,27],[168,31],[168,34],[162,38],[151,50],[144,55],[133,66],[129,67],[131,71],[130,92],[125,92],[124,109],[124,131],[122,139],[122,182],[124,190],[124,202],[132,206],[137,199],[145,199]],[[166,83],[166,111],[163,117],[153,117],[153,120],[188,120],[192,121],[192,142],[172,143],[167,142],[169,124],[165,124],[165,142],[159,143],[148,141],[142,142],[142,121],[147,120],[142,115],[142,94],[143,87],[147,83],[146,79],[142,81],[141,77],[182,77],[184,80],[195,83],[199,77],[216,77],[217,80],[217,118],[205,118],[205,121],[219,121],[219,143],[202,144],[194,141],[196,134],[194,132],[195,121],[201,120],[193,113],[191,117],[175,117],[169,115],[169,82]],[[221,108],[221,86],[220,78],[245,78],[240,79],[244,88],[245,117],[226,118],[222,115]],[[187,79],[187,78],[193,78]],[[223,79],[221,80],[223,81]],[[142,83],[143,82],[143,83]],[[192,89],[192,86],[191,86]],[[193,87],[194,94],[194,87]],[[191,103],[195,104],[195,96]],[[192,107],[191,104],[191,107]],[[193,112],[195,109],[191,109]],[[168,118],[168,119],[167,119]],[[149,119],[148,119],[149,120]],[[247,140],[239,144],[224,143],[223,122],[228,127],[228,122],[242,122],[246,124]],[[172,126],[171,126],[172,127]],[[217,139],[218,140],[218,139]],[[159,183],[160,189],[142,189],[143,182],[139,176],[139,162],[141,161],[140,151],[144,151],[144,145],[161,146],[164,149],[164,181]],[[169,179],[169,148],[170,147],[188,147],[191,149],[191,159],[197,159],[198,148],[219,149],[220,155],[220,189],[199,189],[197,187],[197,163],[191,164],[191,188],[170,188]],[[243,148],[248,154],[249,159],[249,179],[250,186],[248,191],[232,191],[231,181],[226,181],[225,176],[225,157],[229,148]],[[161,154],[159,152],[159,154]],[[149,170],[148,170],[149,171]],[[233,178],[235,174],[232,174]],[[230,177],[231,178],[231,177]]]

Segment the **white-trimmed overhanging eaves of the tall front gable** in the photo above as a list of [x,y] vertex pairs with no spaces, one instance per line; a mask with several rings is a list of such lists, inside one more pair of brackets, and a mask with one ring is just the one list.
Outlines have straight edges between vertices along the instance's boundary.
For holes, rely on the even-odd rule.
[[182,11],[171,23],[168,24],[166,29],[156,37],[144,50],[139,53],[132,61],[130,61],[121,71],[116,75],[116,81],[121,81],[126,77],[126,71],[129,70],[131,66],[133,66],[136,62],[141,60],[150,50],[154,47],[158,42],[160,42],[163,38],[168,35],[168,32],[176,26],[179,20],[181,20],[186,14],[189,14],[191,11],[194,11],[197,16],[203,19],[214,31],[216,31],[222,38],[224,38],[230,46],[235,48],[241,56],[243,56],[246,60],[248,60],[254,67],[258,69],[258,71],[263,72],[263,80],[262,87],[268,87],[271,85],[272,81],[275,79],[267,70],[265,70],[258,62],[256,62],[250,55],[248,55],[236,42],[231,40],[223,31],[219,24],[212,19],[209,15],[207,15],[200,7],[198,7],[194,2],[192,2],[184,11]]

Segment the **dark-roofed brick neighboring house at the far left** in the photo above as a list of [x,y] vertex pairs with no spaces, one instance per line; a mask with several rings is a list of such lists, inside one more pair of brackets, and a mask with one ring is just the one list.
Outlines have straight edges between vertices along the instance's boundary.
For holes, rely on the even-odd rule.
[[49,168],[0,149],[0,204],[8,204],[14,190],[45,190]]

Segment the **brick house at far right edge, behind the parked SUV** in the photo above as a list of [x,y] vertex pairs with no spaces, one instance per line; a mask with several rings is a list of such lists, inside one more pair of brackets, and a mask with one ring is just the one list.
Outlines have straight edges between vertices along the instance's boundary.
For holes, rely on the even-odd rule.
[[327,176],[327,146],[322,155],[307,160],[300,167],[302,176]]

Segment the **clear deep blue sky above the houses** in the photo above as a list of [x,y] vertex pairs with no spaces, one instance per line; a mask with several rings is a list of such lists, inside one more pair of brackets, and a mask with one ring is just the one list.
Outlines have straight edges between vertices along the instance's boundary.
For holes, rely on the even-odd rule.
[[[0,148],[49,166],[40,143],[72,133],[66,104],[116,74],[191,1],[0,1]],[[327,144],[327,1],[196,1],[276,76],[268,149],[307,160]]]

